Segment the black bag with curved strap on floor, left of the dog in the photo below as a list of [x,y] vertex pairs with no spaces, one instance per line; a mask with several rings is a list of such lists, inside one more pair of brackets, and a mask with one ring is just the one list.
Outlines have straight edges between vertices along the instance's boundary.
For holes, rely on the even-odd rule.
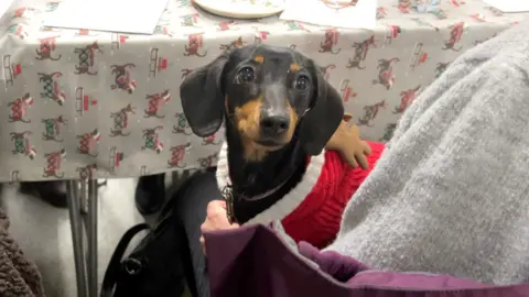
[[[116,248],[101,286],[101,297],[182,296],[185,277],[182,264],[184,229],[173,211],[172,197],[154,228],[140,223],[129,229]],[[149,233],[123,260],[130,241],[142,230]]]

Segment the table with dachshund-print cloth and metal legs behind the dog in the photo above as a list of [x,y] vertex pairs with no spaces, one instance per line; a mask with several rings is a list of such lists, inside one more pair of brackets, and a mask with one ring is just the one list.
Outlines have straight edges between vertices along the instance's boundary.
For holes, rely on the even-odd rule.
[[[155,34],[141,36],[42,28],[42,18],[60,4],[18,0],[0,22],[0,182],[93,180],[214,165],[224,135],[192,135],[179,87],[226,48],[253,43],[312,57],[364,138],[387,141],[417,95],[462,52],[527,15],[501,14],[479,0],[443,1],[438,13],[415,14],[397,0],[380,0],[377,30],[343,30],[277,16],[227,20],[196,10],[191,0],[170,0]],[[89,185],[94,260],[97,195]],[[77,284],[86,296],[76,188],[68,184]],[[95,265],[89,261],[90,296],[97,294]]]

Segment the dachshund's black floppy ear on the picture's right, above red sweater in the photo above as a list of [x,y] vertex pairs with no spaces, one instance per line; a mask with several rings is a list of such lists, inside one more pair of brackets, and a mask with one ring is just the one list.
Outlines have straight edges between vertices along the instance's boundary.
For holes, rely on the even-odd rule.
[[299,139],[305,152],[319,155],[334,134],[344,117],[344,105],[339,94],[323,77],[320,68],[311,62],[316,77],[311,109],[300,123]]

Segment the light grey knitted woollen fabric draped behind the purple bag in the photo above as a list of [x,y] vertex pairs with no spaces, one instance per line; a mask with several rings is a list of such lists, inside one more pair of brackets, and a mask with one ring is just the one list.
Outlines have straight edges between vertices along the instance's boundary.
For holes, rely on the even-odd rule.
[[529,22],[466,52],[403,114],[327,250],[376,268],[529,280]]

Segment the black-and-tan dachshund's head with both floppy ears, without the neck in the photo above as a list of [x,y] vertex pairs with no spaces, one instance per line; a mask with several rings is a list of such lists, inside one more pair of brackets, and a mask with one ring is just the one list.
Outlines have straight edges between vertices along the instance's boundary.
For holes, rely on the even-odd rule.
[[344,114],[338,92],[312,59],[269,45],[226,52],[188,75],[180,96],[195,134],[217,132],[226,116],[251,161],[293,139],[317,155]]

